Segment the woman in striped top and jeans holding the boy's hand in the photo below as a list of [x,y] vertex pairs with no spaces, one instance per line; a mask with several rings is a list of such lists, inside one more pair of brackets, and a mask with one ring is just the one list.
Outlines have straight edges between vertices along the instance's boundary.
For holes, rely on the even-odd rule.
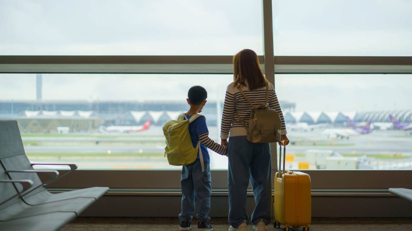
[[[263,75],[258,55],[244,49],[233,57],[233,83],[227,86],[220,138],[222,145],[228,145],[228,186],[229,186],[229,231],[247,230],[249,216],[246,213],[246,192],[249,184],[253,188],[256,207],[252,213],[253,229],[265,230],[271,220],[272,164],[269,143],[250,143],[247,131],[239,122],[235,111],[248,126],[253,107],[241,94],[243,90],[252,104],[266,102],[266,85],[269,84],[269,107],[275,109],[282,120],[281,140],[286,140],[286,127],[274,87]],[[229,138],[229,143],[227,138]]]

